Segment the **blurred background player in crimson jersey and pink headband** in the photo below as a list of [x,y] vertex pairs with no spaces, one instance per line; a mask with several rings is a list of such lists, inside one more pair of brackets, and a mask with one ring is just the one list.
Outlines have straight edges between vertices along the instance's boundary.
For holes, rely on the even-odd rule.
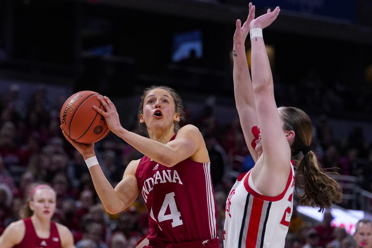
[[11,223],[0,236],[1,248],[74,248],[67,227],[52,222],[55,191],[41,184],[33,188],[22,209],[22,220]]

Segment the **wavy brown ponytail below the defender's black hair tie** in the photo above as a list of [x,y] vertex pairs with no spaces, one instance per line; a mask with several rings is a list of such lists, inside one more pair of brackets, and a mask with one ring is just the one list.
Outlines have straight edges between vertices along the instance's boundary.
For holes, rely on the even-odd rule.
[[[324,208],[331,207],[332,202],[341,202],[341,187],[335,180],[320,167],[314,152],[307,152],[304,157],[296,163],[296,194],[299,204],[303,206],[319,206],[319,212]],[[300,195],[297,188],[304,193]]]

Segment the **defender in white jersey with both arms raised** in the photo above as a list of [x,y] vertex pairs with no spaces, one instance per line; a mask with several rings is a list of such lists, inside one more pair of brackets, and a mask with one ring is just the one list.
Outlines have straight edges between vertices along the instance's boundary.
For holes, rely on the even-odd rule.
[[[224,247],[282,248],[292,215],[295,181],[304,191],[298,195],[300,204],[320,206],[321,210],[341,201],[341,189],[321,171],[311,151],[310,118],[294,107],[276,107],[262,29],[276,19],[279,7],[257,19],[255,7],[251,3],[249,7],[244,25],[236,22],[234,89],[244,136],[256,164],[238,177],[228,196]],[[244,48],[249,30],[252,81]],[[301,157],[296,161],[295,180],[291,157],[296,155]]]

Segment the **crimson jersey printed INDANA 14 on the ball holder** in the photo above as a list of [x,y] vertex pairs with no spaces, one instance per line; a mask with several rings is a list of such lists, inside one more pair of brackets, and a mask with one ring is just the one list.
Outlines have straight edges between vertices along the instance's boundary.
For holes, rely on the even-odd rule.
[[217,207],[210,163],[186,159],[166,167],[144,156],[136,177],[149,212],[150,244],[151,241],[169,244],[217,237]]

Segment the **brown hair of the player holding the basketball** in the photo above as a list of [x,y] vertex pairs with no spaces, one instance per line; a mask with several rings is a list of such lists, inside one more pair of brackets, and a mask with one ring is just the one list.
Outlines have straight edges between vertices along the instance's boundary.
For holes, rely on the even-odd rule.
[[[171,94],[173,101],[174,101],[174,111],[179,114],[180,122],[182,122],[184,120],[185,112],[183,112],[183,103],[182,103],[182,99],[180,95],[175,90],[173,90],[173,88],[170,88],[168,86],[156,86],[156,85],[145,88],[145,90],[143,91],[143,94],[141,96],[141,103],[140,103],[140,106],[138,107],[138,122],[141,118],[141,115],[143,114],[143,106],[144,106],[145,97],[151,90],[155,90],[155,89],[163,89],[163,90],[168,91]],[[140,125],[141,131],[144,133],[147,133],[146,123],[139,122],[139,125]],[[179,129],[180,129],[179,122],[175,122],[174,133],[177,133]]]

